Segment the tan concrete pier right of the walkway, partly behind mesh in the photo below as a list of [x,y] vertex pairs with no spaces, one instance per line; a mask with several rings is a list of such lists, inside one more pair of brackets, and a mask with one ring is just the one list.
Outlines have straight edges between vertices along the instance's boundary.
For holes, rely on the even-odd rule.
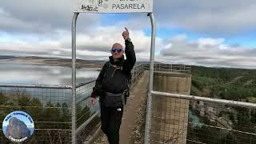
[[[154,90],[190,94],[191,75],[154,72]],[[153,96],[151,143],[186,144],[189,100]]]

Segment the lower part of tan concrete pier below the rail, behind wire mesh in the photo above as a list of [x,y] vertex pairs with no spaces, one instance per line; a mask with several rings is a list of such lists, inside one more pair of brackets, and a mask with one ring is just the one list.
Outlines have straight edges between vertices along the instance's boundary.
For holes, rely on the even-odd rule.
[[186,143],[189,102],[153,97],[151,143]]

